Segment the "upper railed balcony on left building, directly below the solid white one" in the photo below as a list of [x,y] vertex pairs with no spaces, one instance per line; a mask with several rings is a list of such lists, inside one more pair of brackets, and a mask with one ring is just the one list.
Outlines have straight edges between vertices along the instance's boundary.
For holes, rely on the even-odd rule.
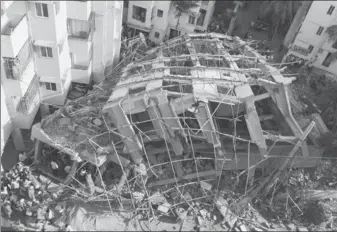
[[3,57],[7,79],[21,80],[29,62],[33,59],[31,40],[28,39],[15,58]]

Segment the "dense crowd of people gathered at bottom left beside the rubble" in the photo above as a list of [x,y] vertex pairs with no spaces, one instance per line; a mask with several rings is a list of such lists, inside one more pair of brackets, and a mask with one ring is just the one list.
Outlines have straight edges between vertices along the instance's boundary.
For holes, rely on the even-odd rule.
[[[53,225],[55,216],[65,213],[65,205],[50,206],[55,195],[46,190],[46,184],[39,181],[22,162],[17,163],[1,178],[2,212],[9,220],[20,220],[37,230]],[[71,230],[64,225],[63,230]]]

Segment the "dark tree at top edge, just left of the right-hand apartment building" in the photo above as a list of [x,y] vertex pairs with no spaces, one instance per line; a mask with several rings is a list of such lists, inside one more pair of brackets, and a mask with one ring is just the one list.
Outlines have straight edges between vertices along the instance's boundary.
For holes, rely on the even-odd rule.
[[290,25],[299,4],[298,1],[264,1],[261,4],[260,15],[271,20],[271,30],[275,28],[272,41],[281,25],[284,27]]

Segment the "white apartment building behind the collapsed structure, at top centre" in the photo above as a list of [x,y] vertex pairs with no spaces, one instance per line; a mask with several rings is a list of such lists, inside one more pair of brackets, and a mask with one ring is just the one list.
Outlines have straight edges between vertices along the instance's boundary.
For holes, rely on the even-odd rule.
[[[207,30],[214,11],[215,1],[199,1],[199,6],[176,17],[173,1],[129,1],[124,20],[129,28],[142,32],[156,44],[182,33]],[[178,25],[177,25],[178,24]]]

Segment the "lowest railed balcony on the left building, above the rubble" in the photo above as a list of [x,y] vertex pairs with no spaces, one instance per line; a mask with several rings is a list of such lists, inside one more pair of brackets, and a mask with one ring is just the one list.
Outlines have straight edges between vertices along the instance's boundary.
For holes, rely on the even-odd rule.
[[[30,108],[40,101],[40,84],[39,77],[34,76],[31,84],[29,85],[26,94],[21,98],[16,111],[21,114],[28,114]],[[37,99],[36,99],[37,98]]]

